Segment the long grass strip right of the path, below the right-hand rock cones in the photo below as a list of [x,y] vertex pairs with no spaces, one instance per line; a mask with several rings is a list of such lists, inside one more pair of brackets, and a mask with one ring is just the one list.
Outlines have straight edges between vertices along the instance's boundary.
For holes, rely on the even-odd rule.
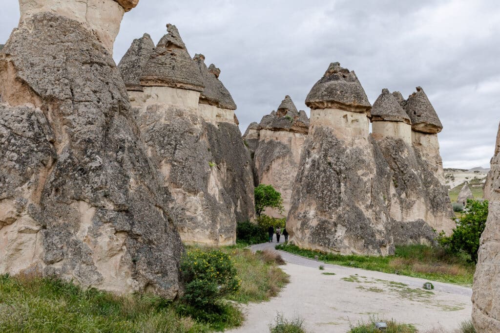
[[288,244],[280,244],[276,248],[311,259],[317,255],[320,261],[326,263],[464,286],[472,285],[475,271],[475,265],[467,262],[465,256],[453,255],[443,249],[425,245],[396,246],[395,255],[386,257],[332,254]]

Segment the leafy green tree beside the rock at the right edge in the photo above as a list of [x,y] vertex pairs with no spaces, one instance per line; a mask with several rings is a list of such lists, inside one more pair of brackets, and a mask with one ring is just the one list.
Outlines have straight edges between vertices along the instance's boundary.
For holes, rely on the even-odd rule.
[[467,209],[462,217],[456,222],[456,228],[449,237],[441,237],[439,243],[447,245],[451,251],[465,252],[470,260],[477,263],[477,250],[479,239],[484,231],[488,217],[488,201],[467,200]]

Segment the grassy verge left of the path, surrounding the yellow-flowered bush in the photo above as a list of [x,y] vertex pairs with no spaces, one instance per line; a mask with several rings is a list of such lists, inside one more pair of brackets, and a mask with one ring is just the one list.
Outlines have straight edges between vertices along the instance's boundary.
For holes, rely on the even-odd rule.
[[[224,247],[241,281],[228,300],[247,303],[267,300],[287,283],[288,276],[263,253],[238,246]],[[2,333],[204,333],[238,326],[243,315],[237,305],[223,302],[216,316],[194,313],[182,302],[151,294],[116,296],[82,289],[55,278],[0,275]],[[204,318],[196,321],[192,317]]]

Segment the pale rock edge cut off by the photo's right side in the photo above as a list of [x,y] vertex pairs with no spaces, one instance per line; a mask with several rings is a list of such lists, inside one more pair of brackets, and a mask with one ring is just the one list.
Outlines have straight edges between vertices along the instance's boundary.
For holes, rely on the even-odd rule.
[[488,181],[488,219],[481,235],[472,286],[472,320],[476,331],[496,333],[500,331],[500,128]]

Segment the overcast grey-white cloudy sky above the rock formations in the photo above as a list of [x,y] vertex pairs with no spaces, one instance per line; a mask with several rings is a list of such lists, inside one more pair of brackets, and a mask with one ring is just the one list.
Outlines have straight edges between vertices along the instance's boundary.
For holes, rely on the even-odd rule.
[[[17,0],[2,0],[0,44],[17,26]],[[371,103],[382,88],[404,97],[421,86],[444,126],[444,167],[489,167],[500,113],[497,0],[140,0],[114,45],[119,62],[134,38],[157,42],[177,26],[192,56],[221,69],[240,129],[305,96],[329,63],[354,70]]]

